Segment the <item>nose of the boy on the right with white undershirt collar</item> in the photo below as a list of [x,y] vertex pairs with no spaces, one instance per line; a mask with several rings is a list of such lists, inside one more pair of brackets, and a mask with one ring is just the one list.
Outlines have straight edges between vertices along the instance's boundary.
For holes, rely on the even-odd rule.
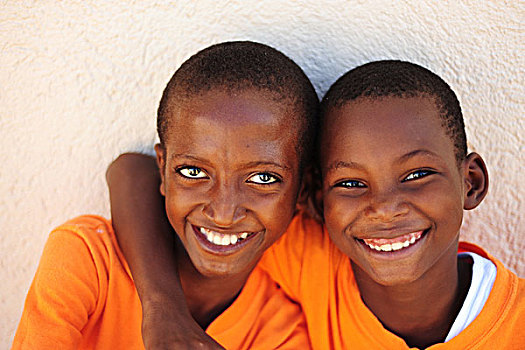
[[370,193],[370,201],[365,209],[365,215],[373,220],[392,222],[409,211],[409,206],[401,193],[389,188]]

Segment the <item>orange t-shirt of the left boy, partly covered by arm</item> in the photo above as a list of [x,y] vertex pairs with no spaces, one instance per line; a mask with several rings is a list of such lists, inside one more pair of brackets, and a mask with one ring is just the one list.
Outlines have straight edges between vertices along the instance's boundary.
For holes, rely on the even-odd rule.
[[[13,349],[144,349],[142,308],[111,223],[81,216],[44,248]],[[206,332],[227,349],[308,349],[300,308],[256,268]]]

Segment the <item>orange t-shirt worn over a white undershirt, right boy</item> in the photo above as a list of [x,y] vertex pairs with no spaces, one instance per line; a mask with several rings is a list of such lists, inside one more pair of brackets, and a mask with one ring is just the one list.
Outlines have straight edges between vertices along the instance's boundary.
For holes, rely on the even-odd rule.
[[[462,243],[460,249],[490,259],[496,280],[476,319],[447,343],[429,349],[525,349],[525,280],[474,245]],[[366,307],[350,259],[306,215],[294,218],[259,266],[301,304],[314,349],[409,349]]]

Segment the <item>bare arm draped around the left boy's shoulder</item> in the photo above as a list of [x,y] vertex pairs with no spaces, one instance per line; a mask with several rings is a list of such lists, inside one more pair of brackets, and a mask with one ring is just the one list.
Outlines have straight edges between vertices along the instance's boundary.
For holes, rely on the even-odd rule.
[[176,234],[166,217],[155,159],[124,154],[106,173],[111,216],[143,309],[147,349],[222,349],[195,322],[175,263]]

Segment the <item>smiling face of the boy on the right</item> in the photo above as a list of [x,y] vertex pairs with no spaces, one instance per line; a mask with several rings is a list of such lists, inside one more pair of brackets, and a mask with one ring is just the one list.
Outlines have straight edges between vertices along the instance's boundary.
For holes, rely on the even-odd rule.
[[356,273],[395,285],[455,263],[469,186],[434,99],[360,99],[326,120],[324,217]]

